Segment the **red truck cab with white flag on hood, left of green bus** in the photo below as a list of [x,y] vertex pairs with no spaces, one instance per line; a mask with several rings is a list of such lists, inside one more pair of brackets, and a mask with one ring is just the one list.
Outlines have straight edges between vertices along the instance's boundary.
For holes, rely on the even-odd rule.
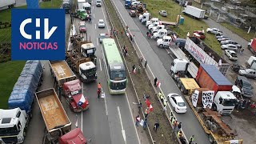
[[79,79],[65,82],[63,84],[66,101],[70,104],[70,109],[74,112],[80,112],[89,108],[88,99],[82,94],[81,82]]

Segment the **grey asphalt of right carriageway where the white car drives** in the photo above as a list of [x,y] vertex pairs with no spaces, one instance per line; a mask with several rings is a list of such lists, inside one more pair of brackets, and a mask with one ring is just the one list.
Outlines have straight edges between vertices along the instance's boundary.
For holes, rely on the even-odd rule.
[[[134,34],[135,44],[138,45],[139,50],[148,61],[150,71],[152,71],[154,76],[162,83],[161,89],[163,93],[165,95],[170,93],[181,94],[174,80],[170,78],[170,75],[168,74],[170,71],[170,62],[172,62],[173,59],[166,53],[166,50],[159,49],[153,39],[146,38],[146,26],[139,22],[138,17],[130,17],[127,10],[124,8],[124,1],[114,0],[114,3],[115,6],[118,7],[118,11],[122,15],[126,25],[129,26],[131,33]],[[210,143],[206,133],[189,106],[186,114],[175,115],[178,118],[178,121],[182,122],[182,130],[184,130],[186,138],[190,138],[190,136],[194,134],[196,142]]]

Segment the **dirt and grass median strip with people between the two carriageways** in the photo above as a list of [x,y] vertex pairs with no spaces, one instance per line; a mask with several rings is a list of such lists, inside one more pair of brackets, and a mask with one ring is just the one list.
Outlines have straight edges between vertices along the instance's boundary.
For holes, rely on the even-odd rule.
[[[106,0],[105,4],[106,4],[107,10],[111,14],[110,19],[114,21],[114,29],[119,31],[118,40],[120,42],[120,45],[121,46],[125,45],[126,47],[128,47],[128,56],[125,59],[127,62],[127,66],[129,68],[128,71],[132,71],[133,65],[136,65],[136,66],[139,65],[138,56],[134,51],[134,47],[130,43],[130,39],[126,37],[126,35],[120,34],[122,30],[124,31],[124,28],[122,26],[122,23],[118,19],[118,15],[115,13],[110,0]],[[144,110],[146,110],[146,103],[144,102],[143,94],[150,94],[149,101],[154,107],[154,111],[150,112],[148,116],[148,125],[150,127],[150,131],[155,143],[158,143],[158,144],[178,143],[177,138],[175,138],[174,134],[172,134],[172,128],[170,126],[168,119],[166,118],[166,115],[162,114],[162,106],[160,102],[158,102],[158,98],[154,96],[155,95],[154,88],[150,84],[149,78],[147,78],[146,76],[146,71],[143,70],[142,68],[140,70],[140,74],[132,74],[131,77],[134,81],[134,85],[135,85],[135,89],[137,90],[138,97],[139,99],[141,99],[143,112]],[[141,112],[141,118],[142,118],[142,112]],[[157,121],[159,122],[160,127],[158,129],[158,132],[156,133],[154,132],[153,128],[154,128],[154,122],[157,122]]]

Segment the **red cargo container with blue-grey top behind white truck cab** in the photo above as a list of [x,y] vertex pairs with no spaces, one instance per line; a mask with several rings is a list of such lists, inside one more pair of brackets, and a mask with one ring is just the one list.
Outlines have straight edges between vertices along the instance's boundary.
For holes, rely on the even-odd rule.
[[218,91],[230,91],[233,86],[214,65],[201,64],[196,81],[200,87],[214,90],[215,94]]

